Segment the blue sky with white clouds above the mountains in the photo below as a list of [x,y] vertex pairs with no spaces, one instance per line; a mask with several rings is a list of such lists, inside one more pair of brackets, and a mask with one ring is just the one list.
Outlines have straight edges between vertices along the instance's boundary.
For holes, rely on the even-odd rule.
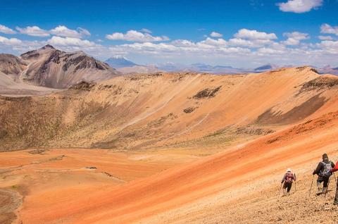
[[0,0],[0,52],[44,44],[104,60],[338,66],[338,1]]

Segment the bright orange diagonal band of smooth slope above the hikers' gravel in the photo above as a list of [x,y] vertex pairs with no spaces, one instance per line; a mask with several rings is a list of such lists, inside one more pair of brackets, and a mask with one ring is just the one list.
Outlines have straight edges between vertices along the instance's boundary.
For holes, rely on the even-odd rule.
[[[20,211],[20,220],[23,223],[56,220],[65,223],[132,223],[175,208],[182,211],[176,215],[182,216],[187,206],[199,200],[212,202],[216,193],[227,195],[235,186],[244,187],[292,164],[301,166],[313,161],[322,151],[332,153],[334,146],[337,147],[337,118],[337,112],[328,113],[261,137],[230,153],[221,152],[122,187],[70,197],[64,201],[67,206],[61,201],[42,206],[48,198],[41,198],[38,204],[27,200]],[[334,152],[337,153],[337,149]],[[285,156],[288,154],[292,156]],[[193,209],[203,212],[203,208]],[[170,217],[161,216],[163,222],[165,218]]]

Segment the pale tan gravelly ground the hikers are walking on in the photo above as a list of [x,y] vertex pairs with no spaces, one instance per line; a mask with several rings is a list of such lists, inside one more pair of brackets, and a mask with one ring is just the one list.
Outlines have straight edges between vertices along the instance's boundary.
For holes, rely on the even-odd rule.
[[[337,157],[336,157],[337,158]],[[336,186],[332,182],[330,191],[324,195],[315,196],[315,180],[309,197],[311,186],[311,166],[306,163],[306,169],[296,167],[299,180],[293,184],[289,197],[280,193],[280,176],[268,176],[248,185],[232,189],[232,195],[219,192],[213,197],[197,201],[194,206],[182,206],[179,209],[160,213],[137,223],[337,223],[338,206],[332,201]],[[306,173],[303,173],[306,170]],[[333,177],[332,177],[332,181]],[[280,193],[280,194],[279,194]],[[229,199],[230,198],[230,199]]]

